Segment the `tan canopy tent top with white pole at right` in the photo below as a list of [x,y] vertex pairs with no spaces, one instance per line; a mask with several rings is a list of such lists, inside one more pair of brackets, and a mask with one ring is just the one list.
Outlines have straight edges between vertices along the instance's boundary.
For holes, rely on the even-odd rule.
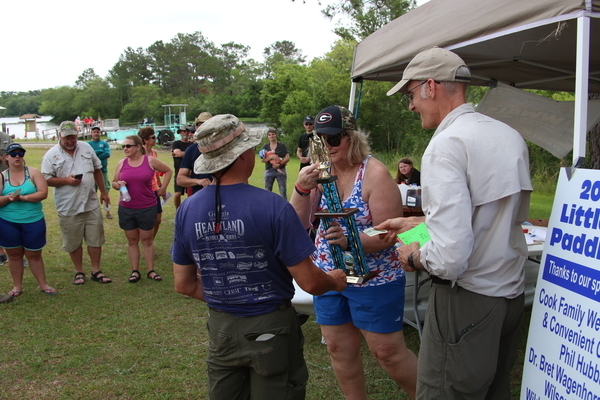
[[431,0],[356,46],[350,109],[363,79],[399,81],[421,50],[460,55],[473,85],[576,93],[573,159],[585,157],[588,93],[600,93],[600,0]]

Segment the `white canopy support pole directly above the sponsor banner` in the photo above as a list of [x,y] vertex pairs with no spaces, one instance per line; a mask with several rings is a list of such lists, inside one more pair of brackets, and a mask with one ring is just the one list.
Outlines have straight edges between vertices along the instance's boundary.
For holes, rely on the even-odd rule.
[[590,18],[577,18],[577,65],[575,73],[575,113],[573,127],[573,165],[585,158],[590,68]]

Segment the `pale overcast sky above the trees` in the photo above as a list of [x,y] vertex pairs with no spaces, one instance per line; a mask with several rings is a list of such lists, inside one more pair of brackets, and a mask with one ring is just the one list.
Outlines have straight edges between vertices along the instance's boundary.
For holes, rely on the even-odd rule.
[[[427,0],[419,0],[422,4]],[[147,48],[177,33],[200,31],[216,45],[265,47],[289,40],[307,61],[331,50],[335,21],[318,0],[30,0],[0,6],[0,91],[73,86],[93,68],[106,77],[127,47]],[[327,0],[321,0],[327,4]],[[144,11],[144,8],[148,11]]]

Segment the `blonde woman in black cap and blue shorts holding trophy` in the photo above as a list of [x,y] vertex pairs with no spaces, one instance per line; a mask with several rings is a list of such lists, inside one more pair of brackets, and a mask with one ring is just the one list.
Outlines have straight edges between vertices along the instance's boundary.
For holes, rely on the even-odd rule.
[[[356,129],[350,111],[341,106],[323,109],[315,118],[313,164],[300,171],[290,202],[307,228],[315,213],[322,215],[331,208],[332,191],[342,209],[355,210],[351,216],[355,222],[336,216],[321,219],[313,257],[324,271],[344,268],[351,275],[340,264],[351,258],[350,244],[358,242],[358,255],[364,254],[370,272],[361,284],[349,283],[342,292],[314,297],[317,323],[346,399],[367,398],[362,337],[382,368],[414,398],[417,358],[406,347],[402,331],[404,271],[390,243],[379,235],[363,233],[388,218],[402,216],[402,202],[385,165],[369,153],[367,135]],[[336,256],[340,250],[344,262]],[[355,281],[349,277],[348,282]]]

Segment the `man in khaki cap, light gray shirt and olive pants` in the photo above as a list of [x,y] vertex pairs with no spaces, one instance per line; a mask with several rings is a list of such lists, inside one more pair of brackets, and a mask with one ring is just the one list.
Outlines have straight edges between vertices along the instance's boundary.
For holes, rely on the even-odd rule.
[[421,247],[398,249],[406,271],[425,270],[433,282],[417,399],[510,399],[523,314],[529,157],[517,131],[466,103],[470,76],[458,55],[434,47],[415,56],[388,92],[403,93],[423,128],[436,129],[421,160],[425,217],[375,227],[393,231],[391,238],[425,222],[431,233]]

